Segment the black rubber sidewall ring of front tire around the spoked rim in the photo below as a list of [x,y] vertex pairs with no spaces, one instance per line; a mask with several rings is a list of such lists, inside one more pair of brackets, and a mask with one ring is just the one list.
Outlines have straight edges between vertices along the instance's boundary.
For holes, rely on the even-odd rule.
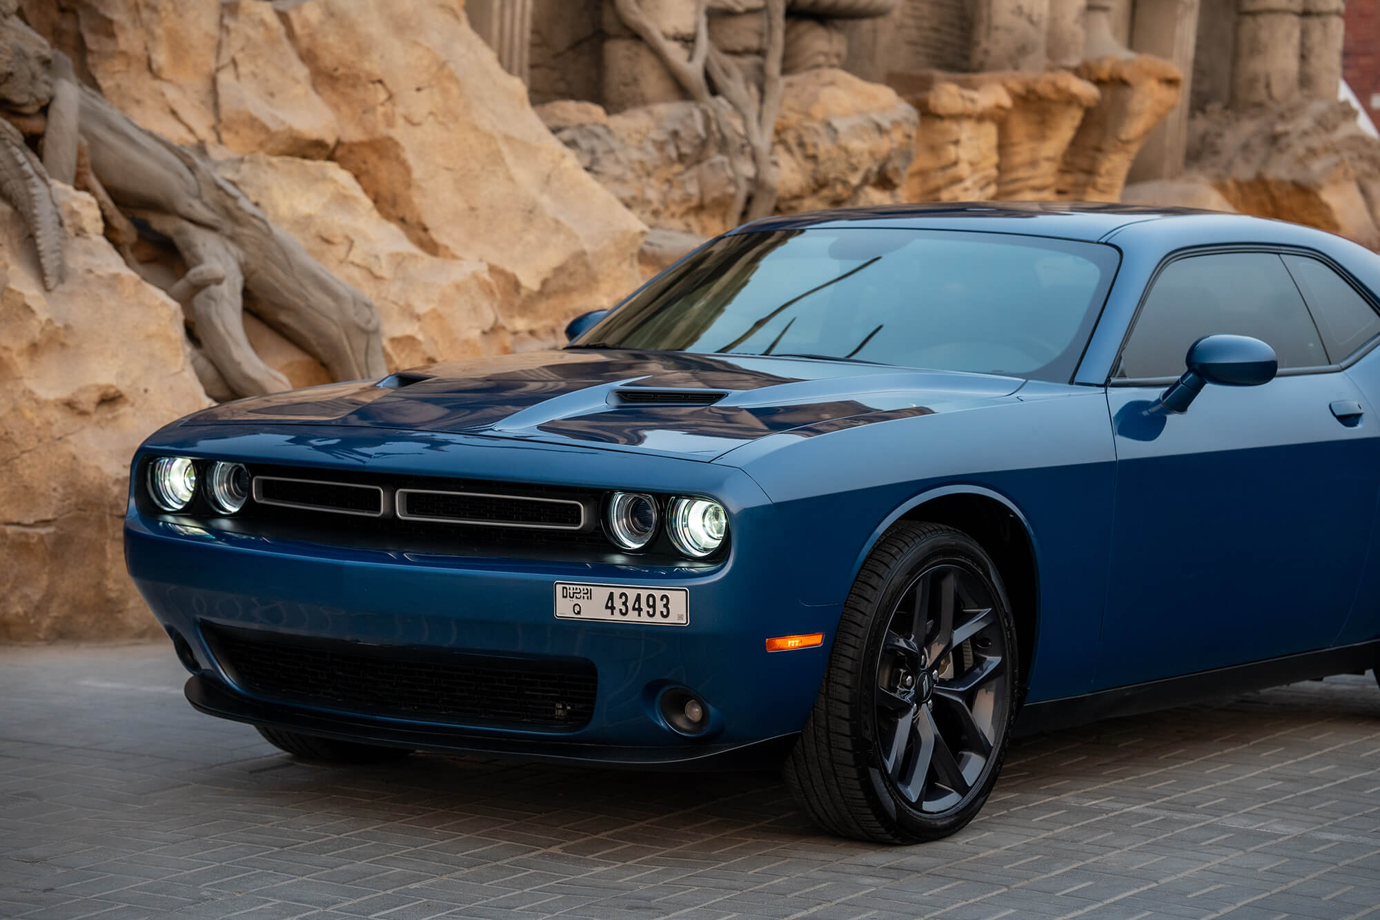
[[[1010,677],[1010,695],[1006,702],[1006,720],[1000,728],[996,742],[992,745],[992,756],[984,765],[977,783],[976,793],[956,811],[926,815],[907,803],[886,778],[882,764],[880,746],[876,740],[876,705],[872,685],[876,682],[878,659],[880,656],[882,641],[890,624],[891,612],[903,591],[909,587],[916,576],[934,565],[958,565],[981,579],[991,591],[994,604],[998,605],[998,620],[1002,626],[1006,641],[1006,664]],[[996,566],[987,557],[976,540],[956,530],[933,533],[909,547],[887,572],[886,582],[872,609],[868,612],[867,642],[861,659],[861,673],[857,674],[858,693],[856,711],[853,713],[854,731],[861,742],[860,750],[865,758],[862,768],[867,779],[864,786],[874,804],[904,836],[914,840],[933,840],[951,834],[967,825],[987,801],[996,776],[1000,772],[1002,761],[1006,758],[1006,747],[1012,735],[1012,724],[1016,720],[1017,696],[1020,687],[1017,671],[1017,644],[1012,626],[1010,602]]]

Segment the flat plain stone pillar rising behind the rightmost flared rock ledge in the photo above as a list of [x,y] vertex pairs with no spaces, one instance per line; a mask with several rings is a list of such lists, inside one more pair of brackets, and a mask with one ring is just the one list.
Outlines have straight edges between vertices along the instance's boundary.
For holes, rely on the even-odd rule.
[[1198,44],[1198,0],[1140,0],[1130,36],[1134,51],[1173,61],[1184,75],[1184,84],[1179,105],[1145,138],[1127,180],[1141,182],[1177,178],[1184,171],[1184,153],[1188,149],[1188,102]]

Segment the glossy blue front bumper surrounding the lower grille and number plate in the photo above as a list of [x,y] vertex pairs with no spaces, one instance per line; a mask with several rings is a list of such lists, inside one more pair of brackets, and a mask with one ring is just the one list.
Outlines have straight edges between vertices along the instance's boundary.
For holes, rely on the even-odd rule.
[[[190,645],[200,673],[188,682],[188,698],[201,711],[429,750],[643,767],[705,758],[737,764],[736,751],[762,743],[774,750],[809,717],[840,608],[802,602],[787,569],[752,544],[752,537],[738,539],[716,568],[658,568],[268,540],[144,514],[135,503],[126,519],[130,573],[163,626]],[[558,580],[684,587],[690,624],[558,620]],[[370,646],[585,659],[598,670],[593,714],[575,731],[545,731],[272,699],[236,684],[203,634],[207,624]],[[825,642],[766,652],[767,637],[798,633],[824,633]],[[665,724],[656,700],[667,687],[687,688],[707,703],[704,734],[687,738]]]

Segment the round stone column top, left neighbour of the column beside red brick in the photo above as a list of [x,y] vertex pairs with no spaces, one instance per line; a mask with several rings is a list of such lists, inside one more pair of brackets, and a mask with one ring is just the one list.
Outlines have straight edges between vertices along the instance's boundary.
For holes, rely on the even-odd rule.
[[1299,95],[1304,0],[1241,0],[1231,104],[1289,102]]

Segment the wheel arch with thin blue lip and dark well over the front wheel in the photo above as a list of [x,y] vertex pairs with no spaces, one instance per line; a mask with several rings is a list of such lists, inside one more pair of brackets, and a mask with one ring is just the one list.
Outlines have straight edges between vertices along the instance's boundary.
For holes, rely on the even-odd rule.
[[1020,655],[1020,698],[1029,687],[1039,648],[1039,547],[1034,529],[1007,496],[978,485],[929,489],[904,503],[872,532],[853,564],[853,577],[872,547],[901,521],[943,524],[969,535],[992,557],[1012,605]]

